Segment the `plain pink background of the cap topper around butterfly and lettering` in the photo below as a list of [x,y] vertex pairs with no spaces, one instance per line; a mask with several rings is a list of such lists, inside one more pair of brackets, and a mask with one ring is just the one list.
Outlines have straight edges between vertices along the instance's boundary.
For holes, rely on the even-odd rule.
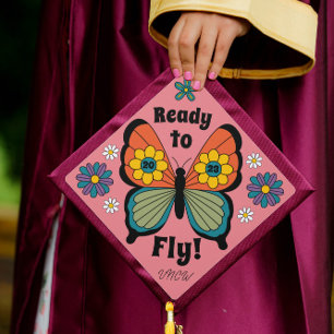
[[[131,119],[124,122],[116,132],[114,132],[102,145],[96,147],[96,150],[86,156],[70,174],[67,175],[65,181],[72,188],[72,190],[77,194],[77,196],[95,213],[95,215],[106,225],[106,227],[119,239],[119,241],[132,253],[132,255],[142,264],[142,266],[150,273],[150,275],[160,285],[160,287],[170,296],[171,299],[178,299],[183,295],[195,282],[198,282],[206,272],[208,272],[217,262],[219,262],[224,257],[226,257],[238,243],[242,241],[247,236],[249,236],[262,222],[270,217],[273,212],[275,212],[279,206],[282,206],[294,193],[294,186],[285,178],[285,176],[278,170],[278,168],[267,158],[267,156],[254,144],[254,142],[242,131],[242,129],[234,121],[234,119],[224,110],[224,108],[215,100],[215,98],[204,88],[202,92],[194,92],[195,99],[190,102],[187,96],[184,96],[180,102],[175,98],[175,95],[179,92],[175,87],[175,82],[181,82],[181,80],[171,81],[163,91],[160,91],[153,99],[151,99],[140,111],[138,111]],[[154,122],[154,107],[164,107],[165,115],[169,109],[175,110],[188,110],[191,112],[196,108],[201,108],[201,112],[212,114],[211,124],[207,130],[201,130],[200,124],[192,123],[174,123]],[[123,146],[123,131],[127,126],[134,119],[144,119],[147,121],[157,133],[160,142],[163,143],[165,151],[169,157],[174,170],[176,170],[177,165],[171,157],[174,157],[179,166],[191,158],[189,163],[186,164],[186,174],[195,159],[201,147],[210,135],[222,124],[229,123],[232,124],[239,131],[242,145],[242,181],[240,186],[228,192],[227,194],[232,200],[234,205],[234,216],[230,222],[230,231],[227,236],[228,248],[226,250],[220,250],[216,241],[206,240],[201,238],[201,248],[199,260],[194,259],[194,244],[193,238],[200,238],[193,229],[191,228],[187,214],[184,214],[182,219],[178,219],[175,216],[174,208],[168,217],[165,226],[155,235],[139,237],[134,243],[128,244],[126,238],[128,236],[128,228],[126,226],[126,212],[124,212],[124,199],[132,187],[124,183],[119,176],[120,162],[120,151]],[[190,148],[172,147],[172,139],[170,132],[178,130],[180,134],[190,134],[192,136],[192,145]],[[103,155],[105,147],[107,145],[116,145],[119,148],[118,157],[112,160],[106,159]],[[262,166],[257,169],[250,168],[246,160],[247,156],[252,153],[259,153],[262,157]],[[77,181],[75,179],[76,175],[80,174],[79,168],[85,166],[87,163],[92,165],[98,162],[99,164],[106,163],[107,169],[112,171],[111,178],[114,179],[114,184],[110,187],[109,193],[104,196],[98,196],[92,199],[90,195],[84,195],[82,189],[77,188]],[[264,175],[266,171],[270,174],[276,172],[277,179],[283,181],[282,188],[284,189],[284,194],[281,196],[281,202],[275,206],[267,206],[262,208],[261,205],[253,205],[252,199],[248,198],[247,184],[250,182],[250,177],[257,176],[258,172]],[[104,208],[105,201],[111,199],[117,199],[119,204],[119,211],[111,213],[106,213]],[[253,212],[253,220],[249,223],[240,223],[237,217],[239,210],[243,207],[250,207]],[[164,243],[164,249],[160,249],[160,255],[152,257],[154,247],[154,237],[169,237],[176,236],[177,242],[191,242],[191,260],[186,266],[179,266],[177,264],[177,247],[175,249],[175,259],[168,259],[168,242]],[[175,279],[170,279],[171,276],[165,276],[163,279],[159,277],[162,271],[176,271],[177,276]],[[179,272],[181,271],[181,272]],[[187,279],[182,279],[181,274],[191,275]]]

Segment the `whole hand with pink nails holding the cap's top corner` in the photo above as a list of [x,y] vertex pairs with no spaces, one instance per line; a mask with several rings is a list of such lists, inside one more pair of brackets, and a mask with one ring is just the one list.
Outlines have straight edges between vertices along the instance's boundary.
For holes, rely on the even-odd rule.
[[193,81],[194,90],[202,90],[206,76],[210,80],[217,77],[235,38],[246,35],[249,28],[250,24],[242,19],[207,12],[183,12],[168,38],[174,75],[178,77],[183,74],[186,80]]

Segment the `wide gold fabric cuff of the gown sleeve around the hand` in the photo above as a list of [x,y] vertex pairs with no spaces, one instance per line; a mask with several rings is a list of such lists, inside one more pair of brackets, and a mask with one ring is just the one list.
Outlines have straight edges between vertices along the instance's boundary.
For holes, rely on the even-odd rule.
[[[205,11],[232,15],[248,20],[264,39],[278,44],[276,49],[286,57],[286,63],[272,67],[249,68],[239,64],[224,68],[223,77],[279,79],[302,75],[309,72],[315,60],[315,38],[318,15],[314,10],[297,0],[152,0],[148,22],[151,36],[167,47],[169,31],[164,28],[164,15],[181,11]],[[166,20],[165,20],[166,22]],[[171,27],[171,26],[170,26]],[[263,44],[265,45],[265,43]],[[282,48],[281,48],[282,47]],[[281,49],[279,49],[281,48]],[[296,57],[290,57],[296,53]],[[269,55],[270,57],[270,55]],[[284,58],[284,56],[283,56]],[[289,59],[298,59],[297,64]]]

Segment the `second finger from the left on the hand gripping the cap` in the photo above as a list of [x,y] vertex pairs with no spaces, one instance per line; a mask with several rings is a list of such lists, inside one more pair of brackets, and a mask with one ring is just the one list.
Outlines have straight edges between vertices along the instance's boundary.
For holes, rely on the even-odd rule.
[[186,80],[192,80],[194,74],[194,48],[201,35],[201,28],[200,20],[188,19],[179,39],[179,52]]

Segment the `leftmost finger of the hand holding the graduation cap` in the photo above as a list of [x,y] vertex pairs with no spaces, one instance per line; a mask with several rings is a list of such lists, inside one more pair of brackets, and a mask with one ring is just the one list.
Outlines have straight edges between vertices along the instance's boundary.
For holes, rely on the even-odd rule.
[[175,77],[179,77],[180,75],[182,75],[182,63],[179,52],[179,39],[184,23],[186,20],[180,17],[172,27],[172,29],[170,31],[168,37],[168,57],[169,57],[170,69]]

